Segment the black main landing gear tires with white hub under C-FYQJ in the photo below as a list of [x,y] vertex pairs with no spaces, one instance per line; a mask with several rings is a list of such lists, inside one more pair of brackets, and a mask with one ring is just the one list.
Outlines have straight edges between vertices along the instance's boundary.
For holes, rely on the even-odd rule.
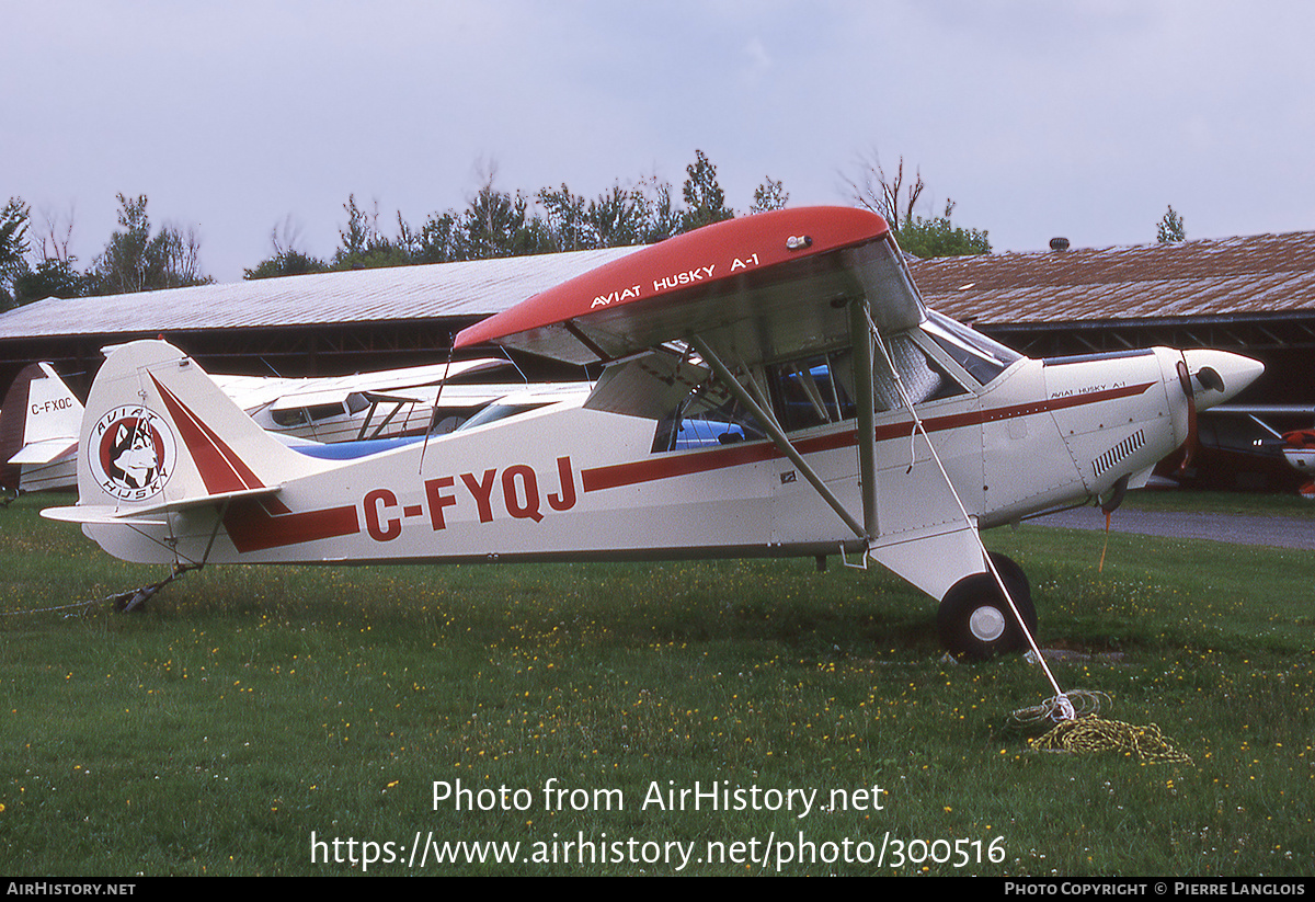
[[[1023,623],[1035,632],[1036,609],[1023,568],[1005,555],[992,552],[990,559],[1005,580]],[[936,627],[940,630],[940,644],[948,652],[973,660],[1027,647],[1027,638],[990,573],[973,573],[955,582],[940,601]]]

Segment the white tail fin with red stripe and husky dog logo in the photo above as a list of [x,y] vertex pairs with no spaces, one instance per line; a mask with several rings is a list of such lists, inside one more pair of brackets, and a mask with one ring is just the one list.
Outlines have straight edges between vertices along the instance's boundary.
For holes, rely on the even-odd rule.
[[83,415],[79,506],[122,511],[270,492],[316,467],[167,342],[109,348]]

